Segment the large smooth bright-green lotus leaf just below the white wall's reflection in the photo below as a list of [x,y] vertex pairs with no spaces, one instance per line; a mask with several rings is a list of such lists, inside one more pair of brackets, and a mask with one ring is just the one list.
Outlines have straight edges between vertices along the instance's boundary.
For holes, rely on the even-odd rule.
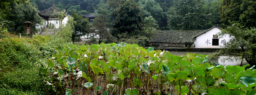
[[231,73],[231,74],[233,74],[234,76],[239,76],[239,73],[240,72],[242,72],[242,71],[245,71],[245,69],[243,68],[243,67],[240,67],[240,66],[236,66],[236,65],[234,65],[234,66],[226,66],[226,71],[228,72],[228,73]]

